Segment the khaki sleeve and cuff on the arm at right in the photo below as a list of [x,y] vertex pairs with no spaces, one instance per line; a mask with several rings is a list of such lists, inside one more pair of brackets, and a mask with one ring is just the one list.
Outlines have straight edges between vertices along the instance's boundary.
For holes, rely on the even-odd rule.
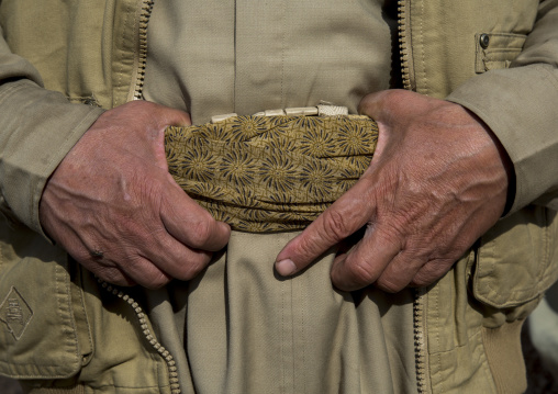
[[447,100],[477,114],[514,164],[511,212],[529,204],[558,210],[558,0],[543,0],[510,68],[471,78]]

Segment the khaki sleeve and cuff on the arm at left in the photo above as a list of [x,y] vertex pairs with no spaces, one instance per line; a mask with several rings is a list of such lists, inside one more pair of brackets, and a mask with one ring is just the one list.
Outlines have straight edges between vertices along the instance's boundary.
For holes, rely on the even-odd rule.
[[36,69],[0,35],[0,214],[38,233],[48,177],[102,113],[42,86]]

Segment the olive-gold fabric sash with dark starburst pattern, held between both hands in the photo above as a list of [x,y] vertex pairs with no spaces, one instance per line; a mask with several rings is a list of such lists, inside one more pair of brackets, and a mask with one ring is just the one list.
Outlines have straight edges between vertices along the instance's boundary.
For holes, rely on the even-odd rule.
[[378,140],[367,116],[234,116],[168,127],[177,183],[233,229],[301,229],[366,170]]

